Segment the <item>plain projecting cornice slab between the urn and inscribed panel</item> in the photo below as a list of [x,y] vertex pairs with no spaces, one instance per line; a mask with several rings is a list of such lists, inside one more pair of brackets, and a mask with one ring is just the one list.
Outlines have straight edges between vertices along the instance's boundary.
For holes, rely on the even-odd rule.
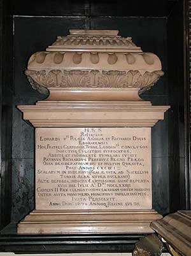
[[132,102],[38,102],[18,106],[34,127],[153,127],[169,106]]

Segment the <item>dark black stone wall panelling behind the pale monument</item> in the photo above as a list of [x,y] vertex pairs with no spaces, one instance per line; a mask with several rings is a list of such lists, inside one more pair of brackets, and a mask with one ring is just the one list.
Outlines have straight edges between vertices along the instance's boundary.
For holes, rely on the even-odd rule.
[[43,96],[24,75],[27,61],[69,29],[117,29],[159,56],[165,75],[141,96],[171,105],[152,129],[153,208],[163,215],[189,209],[188,1],[0,0],[0,11],[1,227],[34,208],[34,128],[16,106]]

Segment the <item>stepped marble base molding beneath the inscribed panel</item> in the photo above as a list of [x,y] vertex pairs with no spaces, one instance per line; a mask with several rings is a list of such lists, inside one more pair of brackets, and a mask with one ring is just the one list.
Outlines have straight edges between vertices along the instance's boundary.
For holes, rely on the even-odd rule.
[[162,218],[155,210],[33,210],[18,224],[18,234],[152,233],[150,223]]

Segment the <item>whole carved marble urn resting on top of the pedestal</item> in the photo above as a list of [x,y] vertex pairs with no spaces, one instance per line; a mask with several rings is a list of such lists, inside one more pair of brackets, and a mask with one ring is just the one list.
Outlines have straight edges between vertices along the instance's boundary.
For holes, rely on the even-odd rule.
[[116,30],[70,30],[29,59],[34,89],[51,101],[141,101],[160,76],[159,57],[143,52]]

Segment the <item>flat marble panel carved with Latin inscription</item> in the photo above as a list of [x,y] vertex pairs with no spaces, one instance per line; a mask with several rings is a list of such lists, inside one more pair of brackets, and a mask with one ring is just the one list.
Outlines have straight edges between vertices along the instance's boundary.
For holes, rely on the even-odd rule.
[[151,128],[37,128],[36,210],[152,209]]

